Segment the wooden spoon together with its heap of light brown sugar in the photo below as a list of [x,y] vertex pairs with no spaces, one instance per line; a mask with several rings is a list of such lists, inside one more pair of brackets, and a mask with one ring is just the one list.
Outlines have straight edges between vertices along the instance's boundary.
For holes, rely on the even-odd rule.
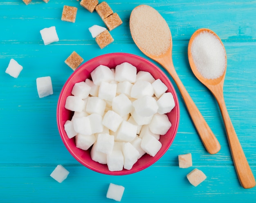
[[164,18],[152,7],[140,5],[130,15],[130,32],[137,47],[164,67],[175,81],[194,126],[210,154],[220,150],[220,143],[204,120],[173,66],[171,31]]

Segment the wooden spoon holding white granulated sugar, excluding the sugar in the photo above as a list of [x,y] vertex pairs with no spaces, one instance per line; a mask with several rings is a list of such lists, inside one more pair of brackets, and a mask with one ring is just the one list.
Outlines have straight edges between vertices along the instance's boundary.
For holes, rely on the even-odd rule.
[[[191,36],[191,39],[189,40],[189,46],[188,46],[189,64],[191,66],[193,73],[198,78],[198,80],[200,80],[200,82],[203,83],[211,91],[213,96],[216,98],[218,105],[220,107],[220,112],[222,114],[224,124],[225,124],[227,138],[229,141],[231,154],[233,157],[234,165],[236,168],[236,172],[237,172],[240,184],[244,188],[251,188],[251,187],[255,186],[255,179],[252,174],[252,170],[249,167],[249,164],[247,162],[247,159],[245,157],[243,149],[240,145],[240,142],[236,135],[235,129],[231,123],[229,114],[227,112],[227,107],[226,107],[225,101],[224,101],[223,85],[224,85],[224,79],[225,79],[227,67],[225,67],[224,73],[219,78],[206,79],[198,71],[197,67],[195,66],[193,57],[192,57],[191,45],[192,45],[195,37],[198,36],[198,34],[200,34],[202,32],[212,33],[214,36],[216,36],[220,40],[220,38],[216,35],[216,33],[214,33],[213,31],[211,31],[209,29],[198,29],[197,31],[195,31],[195,33],[193,33],[193,35]],[[221,40],[220,40],[220,42],[221,42]],[[221,44],[222,44],[222,42],[221,42]],[[223,44],[222,44],[222,46],[224,47]],[[225,48],[224,48],[224,50],[225,50]],[[226,57],[226,65],[227,65],[227,57]]]

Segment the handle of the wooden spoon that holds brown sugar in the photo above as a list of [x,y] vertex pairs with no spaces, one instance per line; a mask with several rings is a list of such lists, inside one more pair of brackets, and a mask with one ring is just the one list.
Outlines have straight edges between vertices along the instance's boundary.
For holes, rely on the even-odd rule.
[[204,117],[198,110],[198,107],[196,107],[189,93],[186,91],[186,88],[182,84],[176,72],[172,71],[169,73],[171,74],[178,89],[180,90],[180,94],[182,95],[184,103],[188,109],[188,112],[191,116],[194,126],[202,140],[202,143],[204,144],[204,147],[206,148],[207,152],[209,152],[210,154],[216,154],[218,151],[220,151],[220,143],[218,142],[217,138],[211,131],[209,125],[204,120]]

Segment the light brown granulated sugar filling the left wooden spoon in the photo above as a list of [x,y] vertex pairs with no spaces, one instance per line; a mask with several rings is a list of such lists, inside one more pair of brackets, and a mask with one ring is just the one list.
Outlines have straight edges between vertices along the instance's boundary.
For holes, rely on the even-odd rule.
[[133,9],[130,18],[132,38],[143,51],[159,56],[170,47],[171,31],[164,18],[152,7]]

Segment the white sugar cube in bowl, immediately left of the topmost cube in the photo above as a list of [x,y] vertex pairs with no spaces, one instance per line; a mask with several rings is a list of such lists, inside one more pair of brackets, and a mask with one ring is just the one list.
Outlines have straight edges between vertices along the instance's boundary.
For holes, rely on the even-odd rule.
[[95,85],[100,85],[101,82],[110,82],[115,80],[113,72],[109,67],[104,65],[99,65],[91,72],[92,81]]

